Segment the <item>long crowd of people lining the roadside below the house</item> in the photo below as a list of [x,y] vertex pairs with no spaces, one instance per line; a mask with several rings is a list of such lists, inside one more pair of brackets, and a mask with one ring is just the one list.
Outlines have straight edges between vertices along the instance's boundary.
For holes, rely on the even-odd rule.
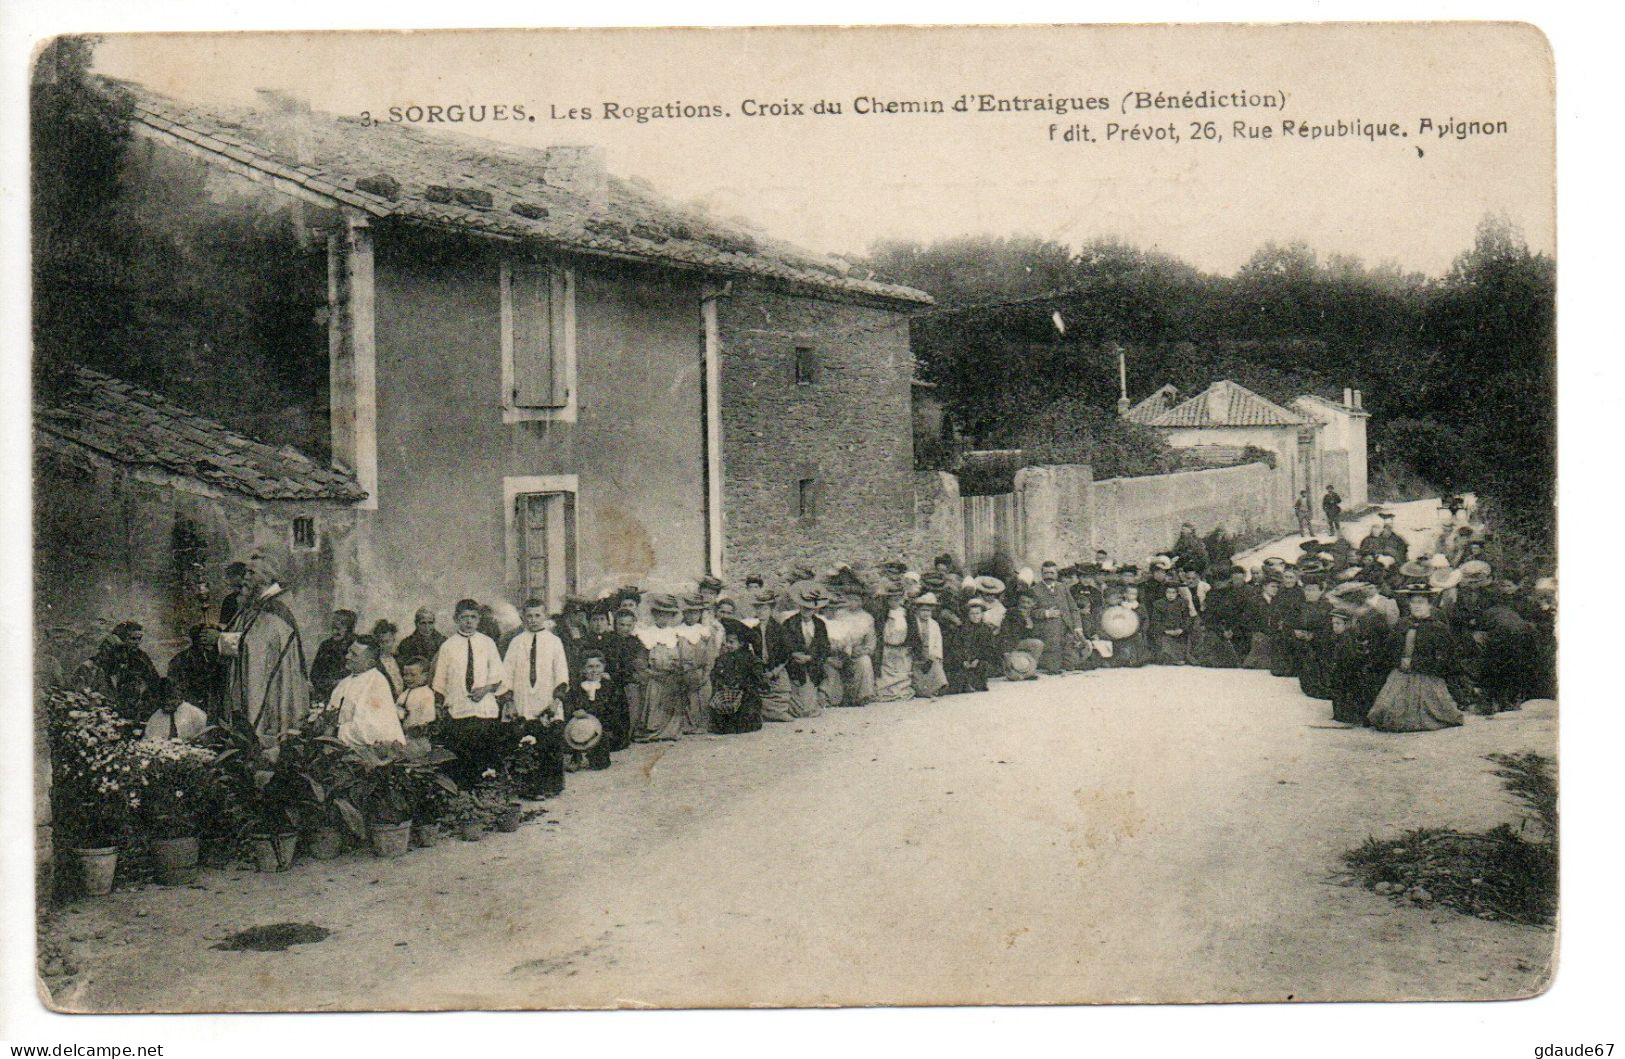
[[150,737],[236,718],[275,742],[325,705],[344,742],[442,746],[465,781],[494,760],[499,724],[522,721],[557,763],[548,794],[637,742],[1105,668],[1268,669],[1334,721],[1428,731],[1555,697],[1555,581],[1498,578],[1493,538],[1453,515],[1427,554],[1384,513],[1358,546],[1334,531],[1246,567],[1186,523],[1144,564],[1095,552],[1011,583],[939,555],[925,570],[798,567],[733,593],[710,577],[681,594],[626,586],[557,612],[460,599],[447,633],[429,606],[406,637],[388,619],[361,632],[341,609],[309,661],[275,564],[254,555],[228,568],[218,622],[197,624],[164,676],[124,622],[57,679]]

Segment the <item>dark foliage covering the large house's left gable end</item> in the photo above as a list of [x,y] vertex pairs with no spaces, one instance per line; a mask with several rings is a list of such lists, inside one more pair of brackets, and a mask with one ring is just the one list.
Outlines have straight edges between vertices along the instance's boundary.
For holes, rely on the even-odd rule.
[[93,54],[52,41],[31,86],[41,396],[93,367],[325,455],[330,218],[135,140]]

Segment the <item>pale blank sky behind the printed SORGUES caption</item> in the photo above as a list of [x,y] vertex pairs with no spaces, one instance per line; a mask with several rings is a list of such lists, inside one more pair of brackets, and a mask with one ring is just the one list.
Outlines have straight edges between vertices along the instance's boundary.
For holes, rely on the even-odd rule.
[[[1550,57],[1516,24],[112,36],[98,67],[185,99],[281,88],[377,117],[518,104],[535,120],[448,128],[600,145],[616,174],[819,252],[964,234],[1116,237],[1230,273],[1264,242],[1303,240],[1323,257],[1440,274],[1485,213],[1508,216],[1534,250],[1555,239]],[[1133,93],[1202,89],[1284,106],[1124,112]],[[1110,110],[952,112],[965,94]],[[860,115],[860,96],[949,109]],[[752,99],[804,114],[748,117]],[[678,101],[728,117],[603,115],[606,102]],[[817,101],[842,114],[812,114]],[[564,117],[570,107],[593,119]],[[1424,119],[1506,130],[1440,138]],[[1237,138],[1237,120],[1271,138]],[[1108,122],[1172,127],[1180,143],[1105,141]],[[1222,140],[1193,138],[1206,122]],[[1305,140],[1284,136],[1284,122],[1407,135]],[[1095,140],[1060,140],[1072,123]]]

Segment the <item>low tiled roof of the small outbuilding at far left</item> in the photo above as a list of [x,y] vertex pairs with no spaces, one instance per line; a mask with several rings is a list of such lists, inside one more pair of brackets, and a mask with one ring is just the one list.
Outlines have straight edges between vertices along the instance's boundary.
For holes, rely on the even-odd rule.
[[179,404],[101,372],[78,369],[67,393],[36,406],[34,426],[119,463],[153,466],[262,500],[361,500],[348,471],[322,466],[193,416]]

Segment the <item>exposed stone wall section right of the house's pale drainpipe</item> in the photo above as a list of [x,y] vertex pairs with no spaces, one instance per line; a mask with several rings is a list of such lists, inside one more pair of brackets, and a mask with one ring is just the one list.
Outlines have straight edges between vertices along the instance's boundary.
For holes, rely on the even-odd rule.
[[[874,564],[913,544],[908,318],[734,289],[722,339],[723,568]],[[808,375],[798,382],[798,348]],[[800,482],[812,512],[798,517]]]

